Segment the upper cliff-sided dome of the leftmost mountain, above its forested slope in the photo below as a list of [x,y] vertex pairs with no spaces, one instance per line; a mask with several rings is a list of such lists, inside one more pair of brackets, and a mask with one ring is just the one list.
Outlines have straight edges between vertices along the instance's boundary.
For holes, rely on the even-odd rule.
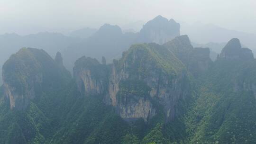
[[[11,109],[26,109],[42,90],[54,89],[62,72],[43,50],[22,48],[3,65],[3,85]],[[68,73],[68,72],[65,72]]]

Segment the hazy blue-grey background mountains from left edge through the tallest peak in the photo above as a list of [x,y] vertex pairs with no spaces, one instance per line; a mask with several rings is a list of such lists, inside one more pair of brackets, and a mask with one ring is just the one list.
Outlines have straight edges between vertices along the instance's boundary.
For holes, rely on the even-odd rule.
[[[98,60],[104,56],[106,61],[111,63],[113,59],[120,58],[122,52],[128,50],[132,44],[144,42],[161,44],[179,36],[179,33],[179,23],[173,19],[157,16],[147,22],[139,33],[123,33],[119,26],[104,24],[99,30],[87,27],[73,31],[69,36],[49,32],[27,36],[4,34],[0,35],[0,68],[8,57],[20,48],[35,47],[45,50],[52,57],[56,52],[61,52],[64,65],[72,72],[74,62],[83,55]],[[1,80],[0,78],[0,84],[2,84]]]

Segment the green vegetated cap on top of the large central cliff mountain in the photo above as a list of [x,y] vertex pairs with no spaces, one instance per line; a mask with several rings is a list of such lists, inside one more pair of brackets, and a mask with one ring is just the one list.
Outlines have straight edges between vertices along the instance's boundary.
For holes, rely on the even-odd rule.
[[124,63],[127,63],[126,69],[130,73],[142,77],[148,76],[148,71],[152,69],[163,71],[170,76],[176,76],[185,70],[183,63],[172,52],[157,44],[132,45],[118,63],[119,69],[123,68]]

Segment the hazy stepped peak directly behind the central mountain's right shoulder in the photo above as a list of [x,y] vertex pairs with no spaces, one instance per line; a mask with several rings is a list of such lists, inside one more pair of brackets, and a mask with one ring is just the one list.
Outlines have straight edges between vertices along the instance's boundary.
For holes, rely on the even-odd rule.
[[164,46],[173,52],[194,76],[208,70],[212,63],[209,48],[193,48],[187,35],[177,36]]

